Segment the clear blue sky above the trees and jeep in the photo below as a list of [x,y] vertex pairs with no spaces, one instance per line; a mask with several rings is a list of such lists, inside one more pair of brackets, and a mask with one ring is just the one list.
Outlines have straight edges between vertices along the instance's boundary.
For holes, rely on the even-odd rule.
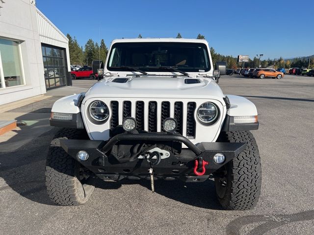
[[64,34],[84,46],[116,38],[196,38],[223,55],[290,58],[314,54],[314,0],[36,0]]

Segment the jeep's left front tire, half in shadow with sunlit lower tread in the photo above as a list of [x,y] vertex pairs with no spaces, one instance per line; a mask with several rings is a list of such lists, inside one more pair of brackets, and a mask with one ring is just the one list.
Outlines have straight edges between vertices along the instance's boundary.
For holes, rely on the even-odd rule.
[[60,206],[84,204],[92,194],[91,172],[68,155],[60,140],[87,139],[85,130],[61,129],[52,140],[46,161],[45,182],[52,202]]

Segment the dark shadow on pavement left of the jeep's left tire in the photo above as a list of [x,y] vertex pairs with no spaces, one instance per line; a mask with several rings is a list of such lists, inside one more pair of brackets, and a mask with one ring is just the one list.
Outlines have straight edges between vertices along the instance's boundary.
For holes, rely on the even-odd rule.
[[45,163],[55,132],[52,129],[15,151],[0,152],[0,178],[6,184],[0,188],[1,193],[13,189],[31,201],[54,205],[45,188]]

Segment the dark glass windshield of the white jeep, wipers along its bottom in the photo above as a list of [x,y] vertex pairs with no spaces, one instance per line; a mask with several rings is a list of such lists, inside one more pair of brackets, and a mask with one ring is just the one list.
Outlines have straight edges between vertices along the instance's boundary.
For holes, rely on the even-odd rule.
[[168,71],[176,68],[185,72],[210,70],[207,47],[203,43],[115,43],[108,58],[109,71]]

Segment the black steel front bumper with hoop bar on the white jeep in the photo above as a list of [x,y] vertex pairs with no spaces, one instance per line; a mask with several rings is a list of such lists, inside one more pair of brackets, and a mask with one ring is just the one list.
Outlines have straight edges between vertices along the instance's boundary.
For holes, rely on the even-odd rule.
[[[147,133],[147,134],[119,134],[109,141],[91,140],[61,140],[61,147],[75,160],[80,162],[98,177],[104,180],[129,179],[149,179],[148,170],[150,164],[146,159],[132,160],[130,162],[119,163],[110,157],[110,151],[116,144],[126,141],[135,142],[182,142],[188,148],[182,149],[181,153],[173,154],[161,159],[160,163],[154,165],[154,177],[165,180],[180,179],[185,182],[199,182],[209,178],[209,174],[214,173],[224,164],[227,164],[245,149],[246,143],[229,142],[201,142],[194,145],[191,141],[180,134]],[[78,151],[86,151],[89,158],[81,161],[77,158]],[[213,161],[216,153],[225,155],[226,160],[222,164]],[[205,165],[206,172],[203,176],[197,176],[193,172],[195,160],[203,159],[209,164]]]

